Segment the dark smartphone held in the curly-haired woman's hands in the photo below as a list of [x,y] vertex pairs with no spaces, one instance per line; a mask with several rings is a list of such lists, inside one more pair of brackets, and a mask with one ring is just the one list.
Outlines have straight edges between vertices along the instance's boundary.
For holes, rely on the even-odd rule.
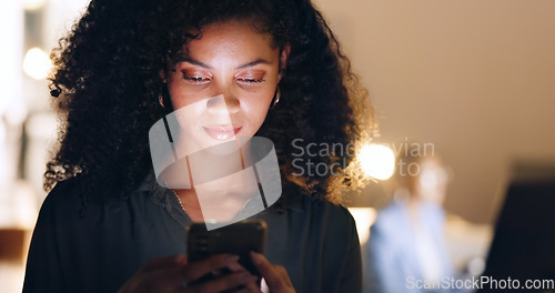
[[[186,253],[190,262],[200,261],[220,253],[239,255],[239,263],[251,274],[260,273],[251,262],[250,252],[264,253],[266,239],[266,223],[262,220],[244,220],[215,230],[206,231],[205,223],[192,223],[186,228]],[[230,273],[229,270],[210,273],[195,283],[205,282],[220,274]],[[191,283],[193,284],[193,283]]]

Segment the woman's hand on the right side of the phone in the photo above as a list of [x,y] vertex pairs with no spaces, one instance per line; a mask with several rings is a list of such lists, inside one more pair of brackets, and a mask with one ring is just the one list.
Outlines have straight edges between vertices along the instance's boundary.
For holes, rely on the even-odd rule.
[[271,293],[295,292],[283,265],[271,264],[264,255],[256,252],[251,252],[251,259],[262,277],[264,277]]

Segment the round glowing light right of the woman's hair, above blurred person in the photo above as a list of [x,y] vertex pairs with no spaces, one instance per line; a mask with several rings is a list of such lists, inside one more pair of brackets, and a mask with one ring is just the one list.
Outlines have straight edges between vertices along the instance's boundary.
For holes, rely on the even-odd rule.
[[387,180],[395,171],[395,154],[385,145],[370,144],[362,148],[359,161],[362,170],[377,180]]

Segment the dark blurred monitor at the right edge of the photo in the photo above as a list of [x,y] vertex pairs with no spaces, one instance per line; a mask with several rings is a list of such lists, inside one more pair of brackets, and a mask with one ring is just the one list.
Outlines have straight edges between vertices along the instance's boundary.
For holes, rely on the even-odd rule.
[[[555,292],[555,168],[534,165],[515,168],[505,203],[497,219],[483,277],[497,280],[478,292]],[[539,289],[504,290],[501,280],[517,280],[511,285],[525,286],[527,280],[551,280]],[[539,283],[536,282],[535,285]],[[533,284],[534,285],[534,284]],[[546,287],[549,285],[549,287]],[[493,290],[492,287],[497,287]]]

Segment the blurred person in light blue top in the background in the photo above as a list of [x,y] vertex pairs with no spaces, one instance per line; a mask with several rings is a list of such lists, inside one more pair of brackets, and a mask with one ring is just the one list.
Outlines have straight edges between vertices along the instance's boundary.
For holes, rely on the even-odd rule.
[[417,287],[454,273],[442,208],[447,172],[433,152],[406,145],[397,158],[394,198],[379,211],[366,243],[366,293],[434,292]]

